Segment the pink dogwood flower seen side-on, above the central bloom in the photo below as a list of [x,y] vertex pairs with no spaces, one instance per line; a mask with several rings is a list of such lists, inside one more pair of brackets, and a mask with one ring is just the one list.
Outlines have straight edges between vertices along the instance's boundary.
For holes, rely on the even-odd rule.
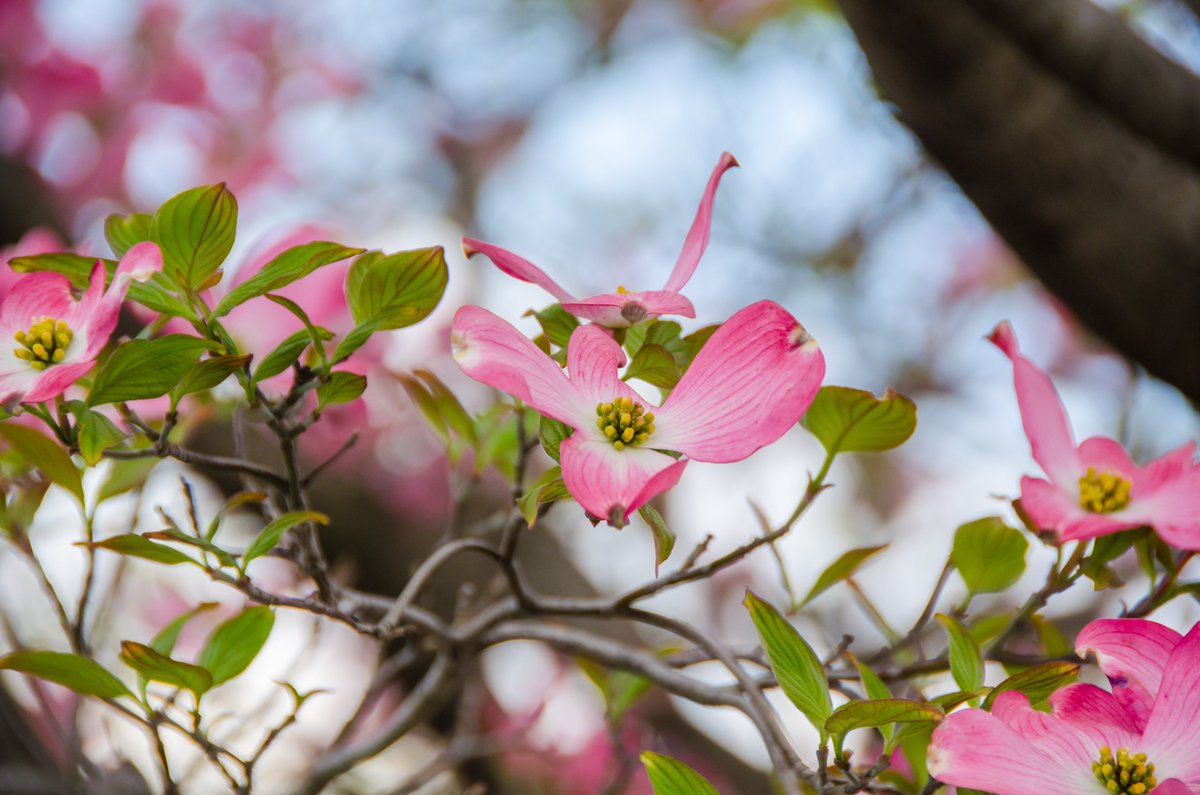
[[716,196],[716,186],[721,181],[721,175],[737,165],[738,161],[734,160],[733,155],[727,151],[721,154],[713,174],[708,178],[708,186],[704,189],[704,196],[700,199],[700,209],[696,210],[691,229],[688,231],[688,237],[683,241],[679,259],[676,261],[674,270],[671,271],[662,289],[631,293],[624,287],[618,287],[616,293],[575,298],[532,262],[499,246],[474,238],[463,238],[462,250],[468,257],[474,253],[487,255],[496,263],[496,267],[508,275],[538,285],[557,298],[563,304],[563,309],[571,315],[607,328],[625,328],[659,315],[696,317],[696,310],[691,301],[680,295],[679,291],[696,273],[696,265],[700,264],[700,258],[703,256],[704,249],[708,247],[708,233],[713,223],[713,199]]

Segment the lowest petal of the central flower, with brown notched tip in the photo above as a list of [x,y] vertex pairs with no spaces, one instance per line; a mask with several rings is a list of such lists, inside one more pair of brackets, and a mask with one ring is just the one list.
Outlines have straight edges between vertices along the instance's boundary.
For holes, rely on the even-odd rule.
[[616,527],[623,527],[631,512],[678,483],[688,464],[686,459],[676,461],[641,447],[618,450],[583,429],[560,449],[566,490],[584,510]]

